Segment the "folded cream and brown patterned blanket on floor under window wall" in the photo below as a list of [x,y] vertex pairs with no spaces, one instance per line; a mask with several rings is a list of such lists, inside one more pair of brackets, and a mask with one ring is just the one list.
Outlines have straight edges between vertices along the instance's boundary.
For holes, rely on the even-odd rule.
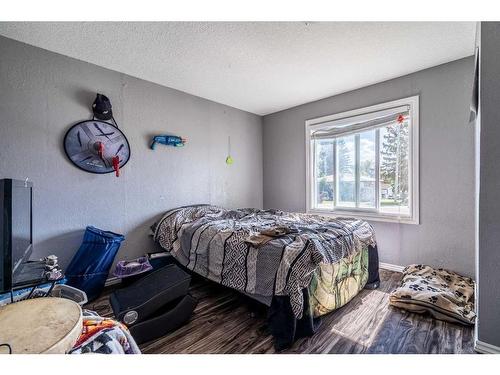
[[474,281],[442,268],[413,264],[403,270],[401,285],[391,293],[392,306],[436,319],[474,324]]

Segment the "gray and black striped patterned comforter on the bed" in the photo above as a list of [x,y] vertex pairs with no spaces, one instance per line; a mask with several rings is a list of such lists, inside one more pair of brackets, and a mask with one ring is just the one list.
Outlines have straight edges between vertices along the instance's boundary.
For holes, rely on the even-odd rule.
[[[259,248],[245,242],[275,226],[293,226],[298,233]],[[182,265],[219,284],[250,295],[289,296],[297,318],[302,290],[320,264],[335,264],[375,244],[372,227],[362,220],[209,205],[168,211],[154,228],[154,239]]]

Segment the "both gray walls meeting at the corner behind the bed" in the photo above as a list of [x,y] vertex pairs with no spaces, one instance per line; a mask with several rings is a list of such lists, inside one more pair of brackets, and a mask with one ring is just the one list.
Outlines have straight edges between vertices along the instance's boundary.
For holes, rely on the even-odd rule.
[[[265,207],[304,211],[304,121],[420,94],[421,224],[373,222],[381,261],[474,273],[471,58],[265,116],[262,128],[259,116],[10,39],[0,37],[0,51],[0,178],[35,184],[35,256],[66,264],[95,225],[125,234],[118,257],[135,257],[154,247],[148,226],[179,205],[262,207],[264,195]],[[131,143],[118,179],[78,170],[62,148],[96,91],[111,98]],[[166,132],[187,146],[149,150]]]

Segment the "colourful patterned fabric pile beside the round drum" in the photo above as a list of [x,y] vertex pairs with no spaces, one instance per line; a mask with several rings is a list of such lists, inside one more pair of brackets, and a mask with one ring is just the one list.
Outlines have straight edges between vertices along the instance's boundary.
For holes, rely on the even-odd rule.
[[83,310],[83,330],[69,354],[141,354],[122,323]]

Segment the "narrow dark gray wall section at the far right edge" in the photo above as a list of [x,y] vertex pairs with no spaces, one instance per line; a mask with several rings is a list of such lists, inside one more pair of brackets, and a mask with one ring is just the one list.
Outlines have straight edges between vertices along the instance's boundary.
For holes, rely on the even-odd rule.
[[500,347],[500,23],[481,23],[478,339]]

